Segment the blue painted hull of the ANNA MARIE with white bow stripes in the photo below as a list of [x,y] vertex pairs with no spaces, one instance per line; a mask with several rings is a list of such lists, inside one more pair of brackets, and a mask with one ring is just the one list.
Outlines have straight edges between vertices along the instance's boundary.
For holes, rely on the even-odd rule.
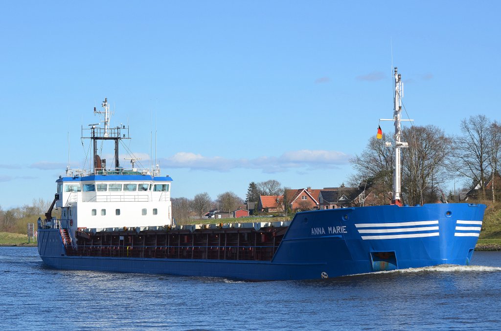
[[247,280],[319,279],[437,264],[467,265],[485,205],[437,203],[299,212],[271,261],[68,256],[59,229],[39,229],[54,268]]

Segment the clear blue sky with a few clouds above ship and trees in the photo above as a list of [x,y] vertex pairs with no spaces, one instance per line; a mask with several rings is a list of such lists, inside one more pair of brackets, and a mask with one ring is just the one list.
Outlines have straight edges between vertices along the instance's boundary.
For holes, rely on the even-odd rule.
[[[52,200],[68,163],[89,166],[81,127],[99,121],[105,97],[111,124],[130,126],[137,166],[156,159],[173,197],[244,198],[268,179],[339,186],[393,114],[392,66],[415,125],[460,134],[470,115],[501,120],[500,11],[499,1],[0,1],[0,205]],[[100,150],[108,164],[112,152]]]

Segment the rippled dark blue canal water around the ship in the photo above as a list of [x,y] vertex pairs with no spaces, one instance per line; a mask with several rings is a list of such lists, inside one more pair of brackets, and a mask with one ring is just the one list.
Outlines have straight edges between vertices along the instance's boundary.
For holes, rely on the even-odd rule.
[[0,247],[0,329],[501,329],[501,252],[472,264],[246,282],[61,271]]

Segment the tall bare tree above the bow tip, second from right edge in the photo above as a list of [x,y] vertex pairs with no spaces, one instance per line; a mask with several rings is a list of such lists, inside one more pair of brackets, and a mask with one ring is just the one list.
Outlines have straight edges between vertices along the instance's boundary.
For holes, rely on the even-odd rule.
[[490,120],[485,115],[470,116],[461,120],[461,136],[454,139],[452,168],[480,185],[485,198],[485,181],[488,171]]

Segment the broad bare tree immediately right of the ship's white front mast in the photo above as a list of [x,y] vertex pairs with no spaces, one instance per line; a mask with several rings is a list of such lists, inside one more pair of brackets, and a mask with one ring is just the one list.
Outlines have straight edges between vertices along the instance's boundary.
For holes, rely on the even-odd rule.
[[407,203],[434,202],[449,176],[446,165],[452,140],[434,125],[403,128],[402,136],[409,145],[402,148],[402,191]]

